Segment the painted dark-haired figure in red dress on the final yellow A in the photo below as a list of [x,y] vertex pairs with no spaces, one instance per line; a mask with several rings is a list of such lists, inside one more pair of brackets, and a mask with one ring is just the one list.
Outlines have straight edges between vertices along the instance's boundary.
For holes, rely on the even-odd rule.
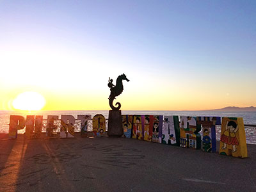
[[236,132],[238,131],[238,125],[234,121],[227,122],[225,131],[220,137],[220,140],[223,142],[223,149],[227,148],[227,145],[232,145],[232,152],[236,152],[236,145],[239,145],[239,142],[236,138]]

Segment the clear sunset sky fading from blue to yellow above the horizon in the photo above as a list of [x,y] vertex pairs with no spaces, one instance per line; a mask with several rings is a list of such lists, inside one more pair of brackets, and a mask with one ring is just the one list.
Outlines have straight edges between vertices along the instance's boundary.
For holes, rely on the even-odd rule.
[[256,106],[256,1],[0,0],[0,110],[20,93],[43,110]]

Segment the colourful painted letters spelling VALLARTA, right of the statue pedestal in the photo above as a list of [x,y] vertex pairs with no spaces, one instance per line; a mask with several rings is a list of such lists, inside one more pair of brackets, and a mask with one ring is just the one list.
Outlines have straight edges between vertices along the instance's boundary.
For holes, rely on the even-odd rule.
[[216,125],[221,125],[220,154],[248,157],[243,118],[122,115],[125,138],[194,148],[204,152],[216,152]]

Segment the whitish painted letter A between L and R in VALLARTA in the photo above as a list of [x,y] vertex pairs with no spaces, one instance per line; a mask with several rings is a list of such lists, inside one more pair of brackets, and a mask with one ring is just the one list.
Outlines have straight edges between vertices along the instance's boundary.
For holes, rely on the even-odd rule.
[[162,143],[180,145],[179,116],[164,116]]

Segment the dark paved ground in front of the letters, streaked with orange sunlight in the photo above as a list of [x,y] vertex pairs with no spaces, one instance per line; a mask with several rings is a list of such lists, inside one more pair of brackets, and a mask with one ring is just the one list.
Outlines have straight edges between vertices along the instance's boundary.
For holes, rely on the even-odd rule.
[[256,191],[248,158],[126,138],[0,136],[0,191]]

